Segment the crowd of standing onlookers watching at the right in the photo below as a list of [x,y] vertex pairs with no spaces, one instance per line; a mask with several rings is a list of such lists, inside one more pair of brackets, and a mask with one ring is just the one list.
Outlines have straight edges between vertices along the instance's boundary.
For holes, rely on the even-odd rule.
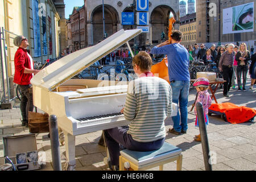
[[246,43],[241,43],[240,46],[235,46],[231,43],[218,47],[212,44],[212,46],[207,49],[204,44],[200,44],[199,47],[199,44],[196,43],[193,46],[188,46],[187,50],[190,56],[189,60],[201,59],[204,63],[211,60],[213,63],[216,63],[226,81],[223,92],[225,97],[229,97],[228,92],[230,88],[237,89],[238,91],[246,91],[246,77],[248,71],[251,77],[249,89],[253,89],[255,84],[255,61],[253,61],[253,59],[255,59],[255,53],[253,46],[251,46],[250,51],[247,49]]

